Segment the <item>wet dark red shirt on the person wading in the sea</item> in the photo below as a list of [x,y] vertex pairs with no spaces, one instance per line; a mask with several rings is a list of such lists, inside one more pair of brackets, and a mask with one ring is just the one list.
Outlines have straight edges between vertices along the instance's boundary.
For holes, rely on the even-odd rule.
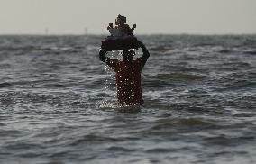
[[118,59],[109,59],[108,65],[114,69],[117,98],[125,105],[143,104],[141,88],[142,59],[125,64]]

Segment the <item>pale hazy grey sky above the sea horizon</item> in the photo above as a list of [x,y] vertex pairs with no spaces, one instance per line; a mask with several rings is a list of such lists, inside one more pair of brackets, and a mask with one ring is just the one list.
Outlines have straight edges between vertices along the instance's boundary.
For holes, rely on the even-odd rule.
[[117,14],[134,34],[256,34],[256,0],[0,0],[0,34],[106,33]]

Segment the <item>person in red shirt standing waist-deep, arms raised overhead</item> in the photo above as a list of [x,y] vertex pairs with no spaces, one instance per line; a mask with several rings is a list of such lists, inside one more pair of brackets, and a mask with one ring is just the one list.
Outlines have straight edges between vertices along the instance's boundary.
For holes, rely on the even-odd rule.
[[105,56],[105,50],[99,51],[99,59],[115,72],[117,99],[122,105],[142,105],[141,73],[142,68],[150,57],[142,41],[137,41],[138,47],[142,48],[142,57],[133,60],[133,50],[123,50],[123,61],[111,59]]

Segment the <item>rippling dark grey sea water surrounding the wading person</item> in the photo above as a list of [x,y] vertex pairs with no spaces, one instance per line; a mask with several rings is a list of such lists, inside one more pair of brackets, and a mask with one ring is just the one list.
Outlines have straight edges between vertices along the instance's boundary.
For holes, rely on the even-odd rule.
[[256,36],[140,36],[130,111],[103,38],[0,36],[1,164],[256,162]]

